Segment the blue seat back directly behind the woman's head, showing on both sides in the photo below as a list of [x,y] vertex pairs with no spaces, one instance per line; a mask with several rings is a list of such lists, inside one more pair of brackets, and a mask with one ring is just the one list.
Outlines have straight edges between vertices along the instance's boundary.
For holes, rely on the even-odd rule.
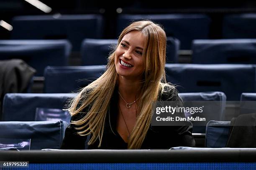
[[[118,40],[85,39],[82,42],[82,65],[107,65],[108,56],[115,49]],[[179,40],[167,37],[166,63],[177,63]]]

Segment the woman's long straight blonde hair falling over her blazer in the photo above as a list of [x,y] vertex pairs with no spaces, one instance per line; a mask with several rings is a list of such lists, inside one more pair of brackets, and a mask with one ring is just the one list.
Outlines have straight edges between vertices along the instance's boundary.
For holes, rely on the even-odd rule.
[[[146,137],[151,123],[152,102],[156,101],[164,92],[164,87],[169,85],[165,80],[166,34],[164,30],[151,21],[137,21],[131,23],[121,32],[118,45],[123,36],[131,31],[140,31],[145,37],[143,52],[144,79],[141,87],[140,102],[138,103],[138,119],[128,140],[128,149],[139,149]],[[97,80],[84,87],[72,101],[69,111],[72,116],[81,113],[87,108],[85,116],[72,121],[77,125],[79,135],[89,135],[88,145],[99,140],[100,147],[105,126],[105,118],[111,97],[118,82],[118,74],[115,70],[115,51],[108,57],[107,70]],[[162,82],[161,82],[162,81]],[[170,88],[168,88],[170,89]]]

